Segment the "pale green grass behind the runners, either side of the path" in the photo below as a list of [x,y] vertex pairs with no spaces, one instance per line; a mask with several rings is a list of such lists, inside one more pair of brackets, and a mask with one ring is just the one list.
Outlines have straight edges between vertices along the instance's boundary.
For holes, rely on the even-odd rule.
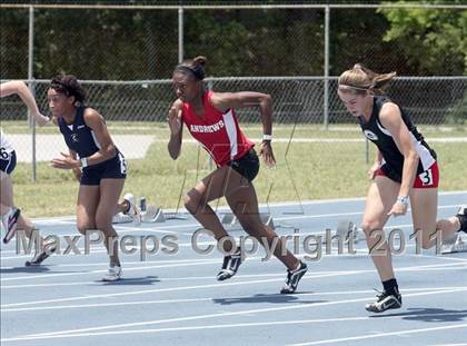
[[[3,121],[7,134],[24,134],[30,130],[23,122]],[[419,127],[428,138],[466,137],[465,127]],[[259,125],[244,126],[247,136],[260,138]],[[153,135],[168,138],[165,123],[109,122],[111,134]],[[54,127],[40,128],[38,134],[58,134]],[[289,138],[292,126],[276,126],[276,138]],[[185,131],[187,132],[187,131]],[[185,138],[190,138],[185,134]],[[357,125],[332,127],[324,130],[321,126],[300,125],[294,138],[342,139],[362,138]],[[467,142],[433,142],[440,165],[440,190],[466,190],[467,179],[465,156]],[[258,146],[257,146],[258,148]],[[287,142],[275,142],[277,167],[261,166],[255,179],[260,202],[287,201],[298,199],[322,199],[361,197],[366,195],[369,181],[366,171],[365,142],[295,142],[290,146],[287,160]],[[370,162],[375,148],[369,146]],[[125,154],[125,152],[123,152]],[[198,159],[199,158],[199,159]],[[287,165],[288,162],[288,165]],[[197,167],[199,168],[197,170]],[[173,161],[167,152],[165,142],[155,142],[143,159],[129,160],[129,176],[125,191],[137,197],[146,196],[149,204],[175,208],[181,192],[188,191],[198,179],[210,171],[210,162],[202,149],[193,144],[185,144],[181,157]],[[186,179],[185,186],[183,179]],[[78,182],[71,171],[49,167],[40,162],[37,167],[37,181],[31,182],[31,165],[18,164],[13,175],[16,205],[29,217],[72,215],[78,191]],[[219,201],[223,205],[223,201]]]

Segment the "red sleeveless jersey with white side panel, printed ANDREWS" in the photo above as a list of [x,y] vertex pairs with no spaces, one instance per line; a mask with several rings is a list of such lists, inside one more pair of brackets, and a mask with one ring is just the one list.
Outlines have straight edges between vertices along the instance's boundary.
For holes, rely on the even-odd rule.
[[241,131],[232,108],[222,113],[211,105],[212,93],[209,90],[202,96],[202,118],[185,102],[181,117],[191,136],[205,147],[216,165],[222,167],[241,158],[255,144]]

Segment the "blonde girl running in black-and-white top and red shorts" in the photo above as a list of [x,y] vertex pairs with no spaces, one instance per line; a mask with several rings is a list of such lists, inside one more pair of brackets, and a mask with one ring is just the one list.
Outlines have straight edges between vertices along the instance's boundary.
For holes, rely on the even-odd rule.
[[[338,95],[347,110],[360,123],[365,136],[378,147],[375,164],[368,171],[372,179],[361,228],[367,236],[371,258],[382,281],[384,290],[366,309],[381,313],[403,305],[393,270],[387,241],[380,246],[381,231],[390,216],[407,212],[410,200],[414,228],[420,231],[423,248],[430,248],[440,230],[441,240],[456,231],[467,231],[467,208],[456,216],[436,220],[439,171],[436,154],[411,123],[407,113],[384,96],[396,73],[378,75],[361,65],[345,71],[338,81]],[[375,246],[378,249],[375,251]]]

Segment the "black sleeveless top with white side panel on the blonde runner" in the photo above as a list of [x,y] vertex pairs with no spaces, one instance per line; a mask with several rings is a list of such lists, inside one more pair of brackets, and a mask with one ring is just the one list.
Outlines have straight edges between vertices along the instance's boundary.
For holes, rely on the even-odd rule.
[[[399,151],[399,148],[397,148],[390,131],[381,125],[379,119],[379,113],[386,102],[391,102],[391,100],[385,96],[375,96],[370,119],[366,121],[365,118],[360,116],[358,117],[358,121],[360,123],[361,130],[365,134],[365,137],[372,141],[381,152],[384,159],[382,164],[389,165],[391,169],[401,176],[404,167],[404,155]],[[431,167],[433,164],[435,164],[436,154],[433,149],[429,148],[421,134],[418,132],[417,128],[411,123],[410,118],[405,112],[405,110],[400,107],[399,110],[403,117],[403,121],[410,132],[415,149],[420,158],[417,174],[421,174]]]

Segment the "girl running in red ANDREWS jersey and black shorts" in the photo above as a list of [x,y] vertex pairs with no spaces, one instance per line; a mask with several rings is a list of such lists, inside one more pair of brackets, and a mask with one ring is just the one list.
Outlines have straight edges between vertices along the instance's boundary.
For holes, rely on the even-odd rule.
[[[170,127],[169,154],[177,159],[181,149],[182,123],[191,136],[209,152],[217,169],[201,179],[185,196],[185,206],[219,241],[228,237],[219,218],[209,202],[225,197],[242,228],[261,244],[267,241],[274,255],[287,267],[286,285],[281,294],[297,289],[307,266],[285,246],[277,234],[264,225],[259,217],[258,199],[252,180],[259,170],[259,159],[254,144],[241,131],[234,108],[259,107],[264,138],[259,155],[266,165],[274,166],[276,159],[271,147],[272,100],[269,95],[251,91],[213,92],[203,87],[205,57],[183,62],[173,71],[173,83],[178,99],[173,102],[168,117]],[[264,240],[265,239],[265,240]],[[222,241],[227,255],[218,280],[232,277],[241,264],[240,248],[232,241]]]

